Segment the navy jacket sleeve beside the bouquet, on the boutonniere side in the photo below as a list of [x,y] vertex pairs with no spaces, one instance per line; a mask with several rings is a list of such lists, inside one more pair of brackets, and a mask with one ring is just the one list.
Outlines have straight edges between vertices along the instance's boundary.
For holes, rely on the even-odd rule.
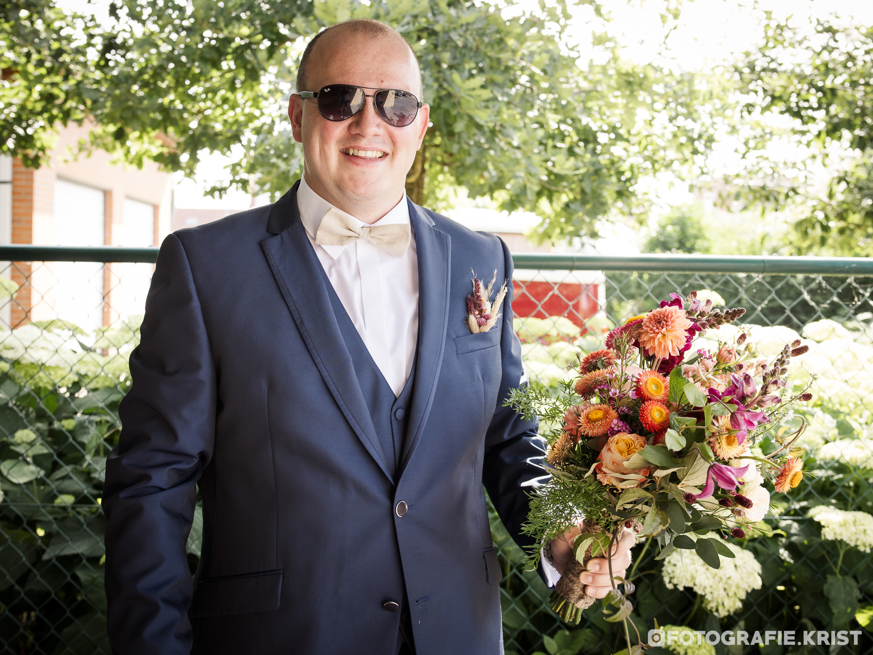
[[509,390],[519,387],[523,369],[519,337],[512,330],[512,257],[503,241],[500,243],[508,280],[508,292],[501,310],[503,378],[498,406],[485,435],[483,481],[506,530],[527,551],[533,546],[533,539],[521,534],[530,504],[527,494],[547,479],[548,474],[540,465],[544,452],[543,440],[537,436],[537,423],[526,421],[516,410],[504,406]]

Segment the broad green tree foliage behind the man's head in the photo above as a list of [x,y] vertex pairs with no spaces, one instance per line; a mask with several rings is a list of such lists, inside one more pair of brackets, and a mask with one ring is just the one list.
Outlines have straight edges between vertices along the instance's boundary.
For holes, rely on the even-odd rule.
[[[13,17],[36,2],[31,15],[53,17],[39,23],[45,38],[10,38]],[[3,134],[11,136],[0,148],[36,165],[53,126],[93,117],[92,145],[128,162],[193,174],[203,150],[233,152],[230,184],[275,196],[301,165],[284,105],[299,38],[348,17],[392,24],[421,60],[432,126],[409,175],[416,202],[438,207],[461,186],[501,209],[537,212],[541,238],[592,234],[610,212],[643,208],[641,177],[686,169],[709,147],[698,80],[622,61],[602,36],[596,49],[606,63],[581,70],[563,45],[562,3],[506,18],[464,0],[124,0],[100,24],[25,0],[4,5],[3,93],[57,93],[48,73],[17,62],[65,52],[75,66],[47,59],[46,70],[66,76],[69,108],[10,104]],[[67,51],[63,38],[75,47]]]

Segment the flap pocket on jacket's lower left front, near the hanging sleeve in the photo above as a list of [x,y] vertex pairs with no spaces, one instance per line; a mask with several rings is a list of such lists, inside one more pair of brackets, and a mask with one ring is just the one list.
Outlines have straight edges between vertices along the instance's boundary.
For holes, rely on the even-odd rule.
[[243,576],[200,580],[191,603],[191,616],[223,617],[278,610],[282,569]]

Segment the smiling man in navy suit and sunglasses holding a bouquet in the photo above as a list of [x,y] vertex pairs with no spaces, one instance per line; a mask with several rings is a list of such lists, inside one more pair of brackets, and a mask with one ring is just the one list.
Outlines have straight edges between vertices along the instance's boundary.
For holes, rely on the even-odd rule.
[[503,407],[522,375],[511,292],[478,334],[466,299],[471,268],[502,281],[512,259],[405,197],[429,107],[395,31],[321,32],[298,91],[303,180],[162,245],[107,463],[113,650],[501,652],[482,487],[527,545],[541,451]]

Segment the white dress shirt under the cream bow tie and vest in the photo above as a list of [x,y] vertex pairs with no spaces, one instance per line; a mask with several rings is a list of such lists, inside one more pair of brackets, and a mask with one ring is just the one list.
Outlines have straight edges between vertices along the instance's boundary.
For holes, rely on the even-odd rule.
[[[318,245],[315,234],[333,205],[300,179],[297,206],[306,236],[340,297],[354,328],[395,396],[409,379],[418,340],[418,256],[413,231],[409,248],[394,257],[369,241]],[[357,219],[355,219],[357,220]],[[366,225],[359,221],[361,225]],[[408,224],[406,194],[374,225]]]

